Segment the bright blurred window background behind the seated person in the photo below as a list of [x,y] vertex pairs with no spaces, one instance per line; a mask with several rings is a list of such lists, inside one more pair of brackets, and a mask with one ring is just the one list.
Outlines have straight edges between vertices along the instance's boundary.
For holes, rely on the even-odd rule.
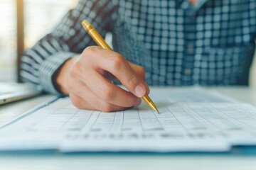
[[[0,82],[18,81],[18,58],[60,21],[78,0],[0,0]],[[256,59],[250,74],[256,87]]]

